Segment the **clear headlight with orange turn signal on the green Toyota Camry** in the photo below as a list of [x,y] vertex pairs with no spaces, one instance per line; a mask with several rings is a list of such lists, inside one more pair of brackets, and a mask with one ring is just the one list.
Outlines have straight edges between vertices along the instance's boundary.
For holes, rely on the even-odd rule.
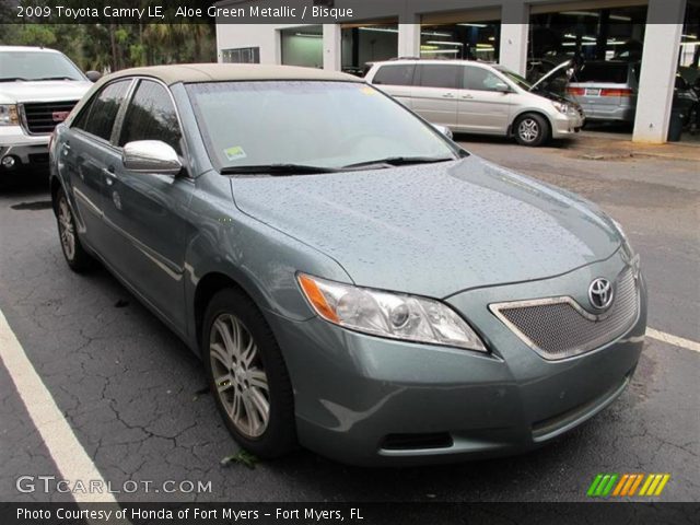
[[352,287],[303,273],[298,279],[314,311],[335,325],[392,339],[487,351],[469,325],[440,301]]

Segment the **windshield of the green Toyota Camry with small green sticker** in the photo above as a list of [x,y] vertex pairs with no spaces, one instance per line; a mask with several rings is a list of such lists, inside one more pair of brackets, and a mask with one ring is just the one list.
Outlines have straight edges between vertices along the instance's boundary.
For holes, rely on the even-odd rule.
[[214,165],[342,168],[382,160],[452,160],[435,129],[364,83],[257,81],[188,84]]

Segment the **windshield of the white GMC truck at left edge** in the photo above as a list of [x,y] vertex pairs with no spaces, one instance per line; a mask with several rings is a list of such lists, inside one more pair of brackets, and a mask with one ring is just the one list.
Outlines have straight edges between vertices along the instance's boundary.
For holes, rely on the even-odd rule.
[[85,80],[66,56],[45,51],[0,51],[0,82],[13,80]]

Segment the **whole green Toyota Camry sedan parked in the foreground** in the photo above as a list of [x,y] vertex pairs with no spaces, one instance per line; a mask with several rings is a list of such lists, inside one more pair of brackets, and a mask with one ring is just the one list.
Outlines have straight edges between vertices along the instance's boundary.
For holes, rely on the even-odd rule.
[[609,405],[640,358],[645,284],[617,223],[355,77],[120,71],[50,154],[69,267],[101,260],[201,355],[258,456],[527,451]]

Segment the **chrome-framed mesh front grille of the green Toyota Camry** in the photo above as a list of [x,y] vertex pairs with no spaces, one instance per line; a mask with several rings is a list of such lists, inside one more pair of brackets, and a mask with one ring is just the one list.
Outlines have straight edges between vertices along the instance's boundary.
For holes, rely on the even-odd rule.
[[617,339],[637,320],[634,270],[622,271],[614,287],[612,306],[602,315],[586,312],[571,298],[500,303],[491,305],[491,311],[545,359],[565,359]]

